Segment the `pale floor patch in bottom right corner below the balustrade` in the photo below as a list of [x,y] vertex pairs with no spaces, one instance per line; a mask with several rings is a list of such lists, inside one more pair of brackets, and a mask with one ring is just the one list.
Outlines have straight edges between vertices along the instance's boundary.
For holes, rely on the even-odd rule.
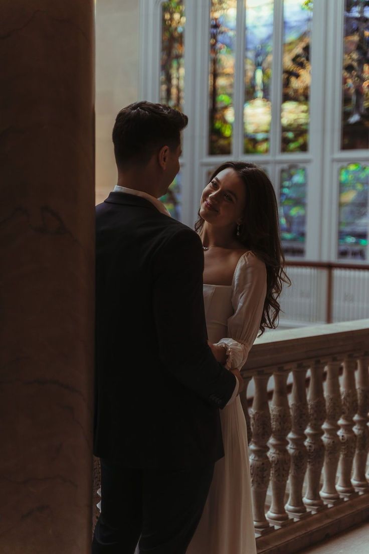
[[299,554],[369,554],[369,522],[328,538],[318,546],[311,546]]

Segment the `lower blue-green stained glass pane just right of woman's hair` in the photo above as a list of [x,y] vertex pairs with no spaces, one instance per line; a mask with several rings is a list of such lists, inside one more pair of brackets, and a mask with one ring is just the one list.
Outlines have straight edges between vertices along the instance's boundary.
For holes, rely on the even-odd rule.
[[306,185],[306,168],[289,166],[280,170],[280,236],[289,257],[305,254]]

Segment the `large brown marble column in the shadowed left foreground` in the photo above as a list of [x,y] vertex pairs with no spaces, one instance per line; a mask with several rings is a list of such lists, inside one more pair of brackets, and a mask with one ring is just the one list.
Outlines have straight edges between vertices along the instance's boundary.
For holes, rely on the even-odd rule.
[[0,551],[87,554],[92,0],[0,8]]

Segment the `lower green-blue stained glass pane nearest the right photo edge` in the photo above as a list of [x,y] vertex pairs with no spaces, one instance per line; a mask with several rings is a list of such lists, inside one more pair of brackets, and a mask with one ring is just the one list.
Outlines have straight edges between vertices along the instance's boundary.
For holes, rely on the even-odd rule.
[[349,163],[340,171],[340,259],[366,259],[368,244],[369,166]]

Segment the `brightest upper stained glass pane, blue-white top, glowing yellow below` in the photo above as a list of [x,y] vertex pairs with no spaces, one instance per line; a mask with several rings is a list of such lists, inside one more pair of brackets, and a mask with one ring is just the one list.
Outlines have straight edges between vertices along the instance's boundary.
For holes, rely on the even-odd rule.
[[269,152],[274,0],[245,0],[244,152]]

